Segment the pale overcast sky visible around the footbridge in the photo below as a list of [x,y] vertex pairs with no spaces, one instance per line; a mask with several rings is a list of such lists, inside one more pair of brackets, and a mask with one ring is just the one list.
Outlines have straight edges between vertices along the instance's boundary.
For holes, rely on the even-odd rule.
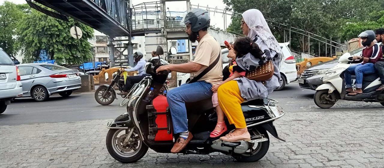
[[[0,4],[3,4],[5,0],[0,0]],[[8,0],[10,2],[13,2],[13,3],[17,3],[17,4],[21,4],[21,3],[26,3],[25,0]],[[153,2],[155,0],[133,0],[132,1],[132,4],[133,5],[136,5],[136,4],[139,4],[139,3],[142,3],[142,2]],[[191,4],[192,5],[200,5],[200,6],[204,6],[206,7],[207,5],[211,8],[218,8],[218,9],[224,9],[225,8],[225,4],[223,3],[222,0],[190,0]],[[184,2],[167,2],[166,3],[166,6],[169,7],[169,10],[170,11],[180,11],[180,12],[183,12],[185,10],[187,10],[187,5]],[[220,13],[213,13],[211,12],[210,13],[210,16],[211,16],[211,25],[214,25],[216,27],[219,27],[219,28],[224,28],[224,17],[222,14]],[[227,16],[227,24],[226,26],[228,27],[228,25],[230,24],[231,22],[231,18],[230,16],[228,15]]]

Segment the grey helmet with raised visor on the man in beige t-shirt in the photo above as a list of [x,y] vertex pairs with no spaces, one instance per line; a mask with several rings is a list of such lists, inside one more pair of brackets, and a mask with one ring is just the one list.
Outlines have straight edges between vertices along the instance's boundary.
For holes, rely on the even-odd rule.
[[181,20],[180,25],[187,26],[191,24],[192,31],[200,31],[202,28],[209,27],[211,18],[208,11],[204,9],[192,9]]

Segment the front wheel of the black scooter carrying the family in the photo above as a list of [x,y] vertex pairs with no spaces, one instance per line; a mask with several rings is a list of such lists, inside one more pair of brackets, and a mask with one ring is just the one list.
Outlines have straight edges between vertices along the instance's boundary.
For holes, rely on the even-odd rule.
[[107,133],[107,150],[114,159],[121,163],[134,163],[148,151],[148,146],[142,142],[136,129],[133,130],[130,137],[127,137],[131,129],[109,129]]

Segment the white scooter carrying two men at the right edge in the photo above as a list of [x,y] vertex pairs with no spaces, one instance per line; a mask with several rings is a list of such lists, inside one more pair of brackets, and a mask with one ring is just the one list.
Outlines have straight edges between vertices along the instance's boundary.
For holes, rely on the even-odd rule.
[[344,71],[351,66],[353,56],[349,53],[339,58],[339,63],[329,69],[323,76],[324,84],[316,89],[314,103],[322,108],[331,108],[339,99],[350,101],[380,102],[384,105],[384,92],[376,91],[381,85],[377,74],[364,74],[362,82],[362,94],[348,96],[345,89]]

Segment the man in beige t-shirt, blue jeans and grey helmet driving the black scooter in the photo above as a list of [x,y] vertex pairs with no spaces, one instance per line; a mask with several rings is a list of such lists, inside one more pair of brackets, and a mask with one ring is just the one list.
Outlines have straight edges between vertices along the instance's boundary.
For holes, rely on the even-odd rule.
[[209,13],[202,9],[191,10],[184,16],[180,25],[186,26],[185,33],[188,34],[192,43],[199,42],[196,47],[195,59],[189,63],[160,66],[156,70],[157,72],[167,70],[191,73],[191,80],[193,81],[192,77],[195,77],[195,74],[202,73],[204,69],[211,64],[213,65],[217,61],[216,59],[219,60],[209,72],[197,79],[196,82],[182,85],[168,92],[167,101],[172,116],[174,133],[179,133],[179,138],[177,138],[171,150],[172,153],[178,153],[184,149],[193,137],[192,133],[188,131],[185,103],[210,99],[213,94],[211,87],[214,84],[219,84],[223,77],[220,44],[207,32],[210,26]]

